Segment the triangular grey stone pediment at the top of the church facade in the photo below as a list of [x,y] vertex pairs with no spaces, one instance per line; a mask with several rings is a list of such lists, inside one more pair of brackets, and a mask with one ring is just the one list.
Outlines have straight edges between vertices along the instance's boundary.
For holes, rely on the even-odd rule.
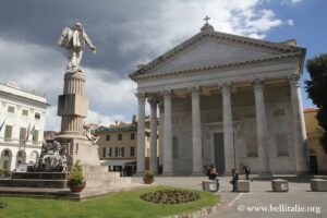
[[275,59],[305,49],[219,32],[199,33],[131,74],[162,74],[190,69]]

